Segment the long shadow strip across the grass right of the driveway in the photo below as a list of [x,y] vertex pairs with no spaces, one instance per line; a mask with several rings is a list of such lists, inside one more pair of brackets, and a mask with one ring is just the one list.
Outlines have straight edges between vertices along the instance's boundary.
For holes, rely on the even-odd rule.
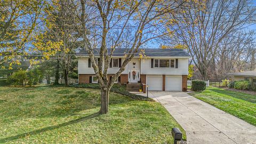
[[253,96],[253,95],[250,95],[250,94],[233,92],[233,91],[222,90],[222,89],[220,89],[220,90],[219,89],[209,89],[209,90],[211,90],[213,92],[220,93],[220,94],[226,94],[226,95],[229,95],[230,97],[233,97],[233,98],[242,99],[242,100],[245,100],[245,101],[256,103],[256,97]]

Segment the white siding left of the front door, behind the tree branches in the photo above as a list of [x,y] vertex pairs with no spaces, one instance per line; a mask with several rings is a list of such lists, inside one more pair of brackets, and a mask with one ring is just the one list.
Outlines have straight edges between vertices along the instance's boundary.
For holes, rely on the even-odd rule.
[[[94,70],[91,67],[88,67],[88,59],[89,58],[78,58],[78,74],[95,74]],[[122,58],[122,62],[124,59]],[[125,70],[122,74],[128,74],[128,66],[125,67]],[[115,74],[120,68],[114,67],[114,68],[108,68],[108,74]]]

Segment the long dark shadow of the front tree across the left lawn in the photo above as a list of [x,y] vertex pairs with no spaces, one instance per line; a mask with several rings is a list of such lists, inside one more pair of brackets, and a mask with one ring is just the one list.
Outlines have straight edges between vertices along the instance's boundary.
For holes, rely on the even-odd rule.
[[5,142],[12,141],[12,140],[20,139],[20,138],[25,138],[25,137],[27,137],[27,135],[39,134],[41,132],[46,132],[46,131],[58,129],[58,128],[63,127],[63,126],[67,126],[67,125],[71,125],[71,124],[76,124],[76,123],[79,123],[79,122],[83,122],[83,121],[85,121],[87,119],[90,119],[90,118],[93,118],[93,117],[97,117],[99,115],[100,115],[99,113],[94,113],[94,114],[91,114],[91,115],[88,115],[88,116],[84,116],[84,117],[81,117],[81,118],[78,118],[78,119],[74,119],[73,121],[69,121],[69,122],[66,122],[66,123],[45,127],[43,129],[39,129],[39,130],[27,132],[27,133],[21,133],[21,134],[13,135],[11,137],[0,139],[0,143],[5,143]]

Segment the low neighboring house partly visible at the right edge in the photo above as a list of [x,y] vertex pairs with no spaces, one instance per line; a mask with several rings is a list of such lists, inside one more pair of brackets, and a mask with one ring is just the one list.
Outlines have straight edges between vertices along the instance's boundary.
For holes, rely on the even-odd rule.
[[256,84],[256,70],[230,73],[227,75],[231,76],[234,81],[250,81]]

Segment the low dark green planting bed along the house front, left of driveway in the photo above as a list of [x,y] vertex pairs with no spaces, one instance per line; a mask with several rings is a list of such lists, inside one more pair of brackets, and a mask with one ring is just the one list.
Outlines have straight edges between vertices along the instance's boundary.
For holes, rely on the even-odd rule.
[[[84,87],[84,88],[89,88],[89,89],[100,89],[100,85],[99,84],[77,84],[77,85],[70,85],[71,87]],[[130,93],[129,91],[126,90],[126,86],[125,85],[120,85],[120,84],[114,84],[111,89],[111,92],[116,92],[122,95],[126,95],[127,97],[130,97],[132,99],[135,100],[146,100],[146,101],[154,101],[151,98],[146,98],[143,97],[142,95],[137,95],[137,94],[133,94]]]

